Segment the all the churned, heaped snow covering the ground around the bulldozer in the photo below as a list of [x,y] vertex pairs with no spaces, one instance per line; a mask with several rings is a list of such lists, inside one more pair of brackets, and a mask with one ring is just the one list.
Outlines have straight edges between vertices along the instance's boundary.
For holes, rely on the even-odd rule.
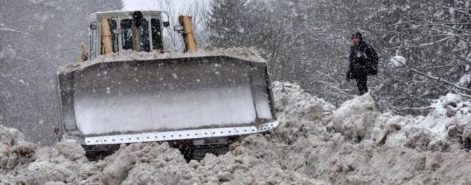
[[423,117],[375,109],[367,93],[339,108],[273,83],[280,126],[186,163],[167,143],[123,145],[88,162],[71,140],[24,142],[0,127],[0,184],[470,184],[471,103],[441,97]]

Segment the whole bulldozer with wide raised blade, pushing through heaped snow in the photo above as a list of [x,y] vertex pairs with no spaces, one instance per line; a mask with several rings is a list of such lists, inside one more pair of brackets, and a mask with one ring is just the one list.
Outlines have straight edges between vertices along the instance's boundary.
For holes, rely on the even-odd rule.
[[[91,14],[85,61],[57,70],[59,140],[75,139],[87,154],[169,142],[191,148],[196,159],[223,154],[233,138],[278,126],[265,60],[192,55],[198,48],[191,17],[180,16],[173,30],[168,17],[163,11]],[[181,33],[188,55],[165,55],[168,30]],[[106,60],[120,53],[158,57]]]

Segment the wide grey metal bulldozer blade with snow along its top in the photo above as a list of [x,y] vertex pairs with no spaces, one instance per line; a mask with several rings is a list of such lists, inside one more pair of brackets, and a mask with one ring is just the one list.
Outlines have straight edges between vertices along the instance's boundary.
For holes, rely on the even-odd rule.
[[59,133],[82,144],[224,137],[278,126],[265,61],[102,61],[59,70]]

